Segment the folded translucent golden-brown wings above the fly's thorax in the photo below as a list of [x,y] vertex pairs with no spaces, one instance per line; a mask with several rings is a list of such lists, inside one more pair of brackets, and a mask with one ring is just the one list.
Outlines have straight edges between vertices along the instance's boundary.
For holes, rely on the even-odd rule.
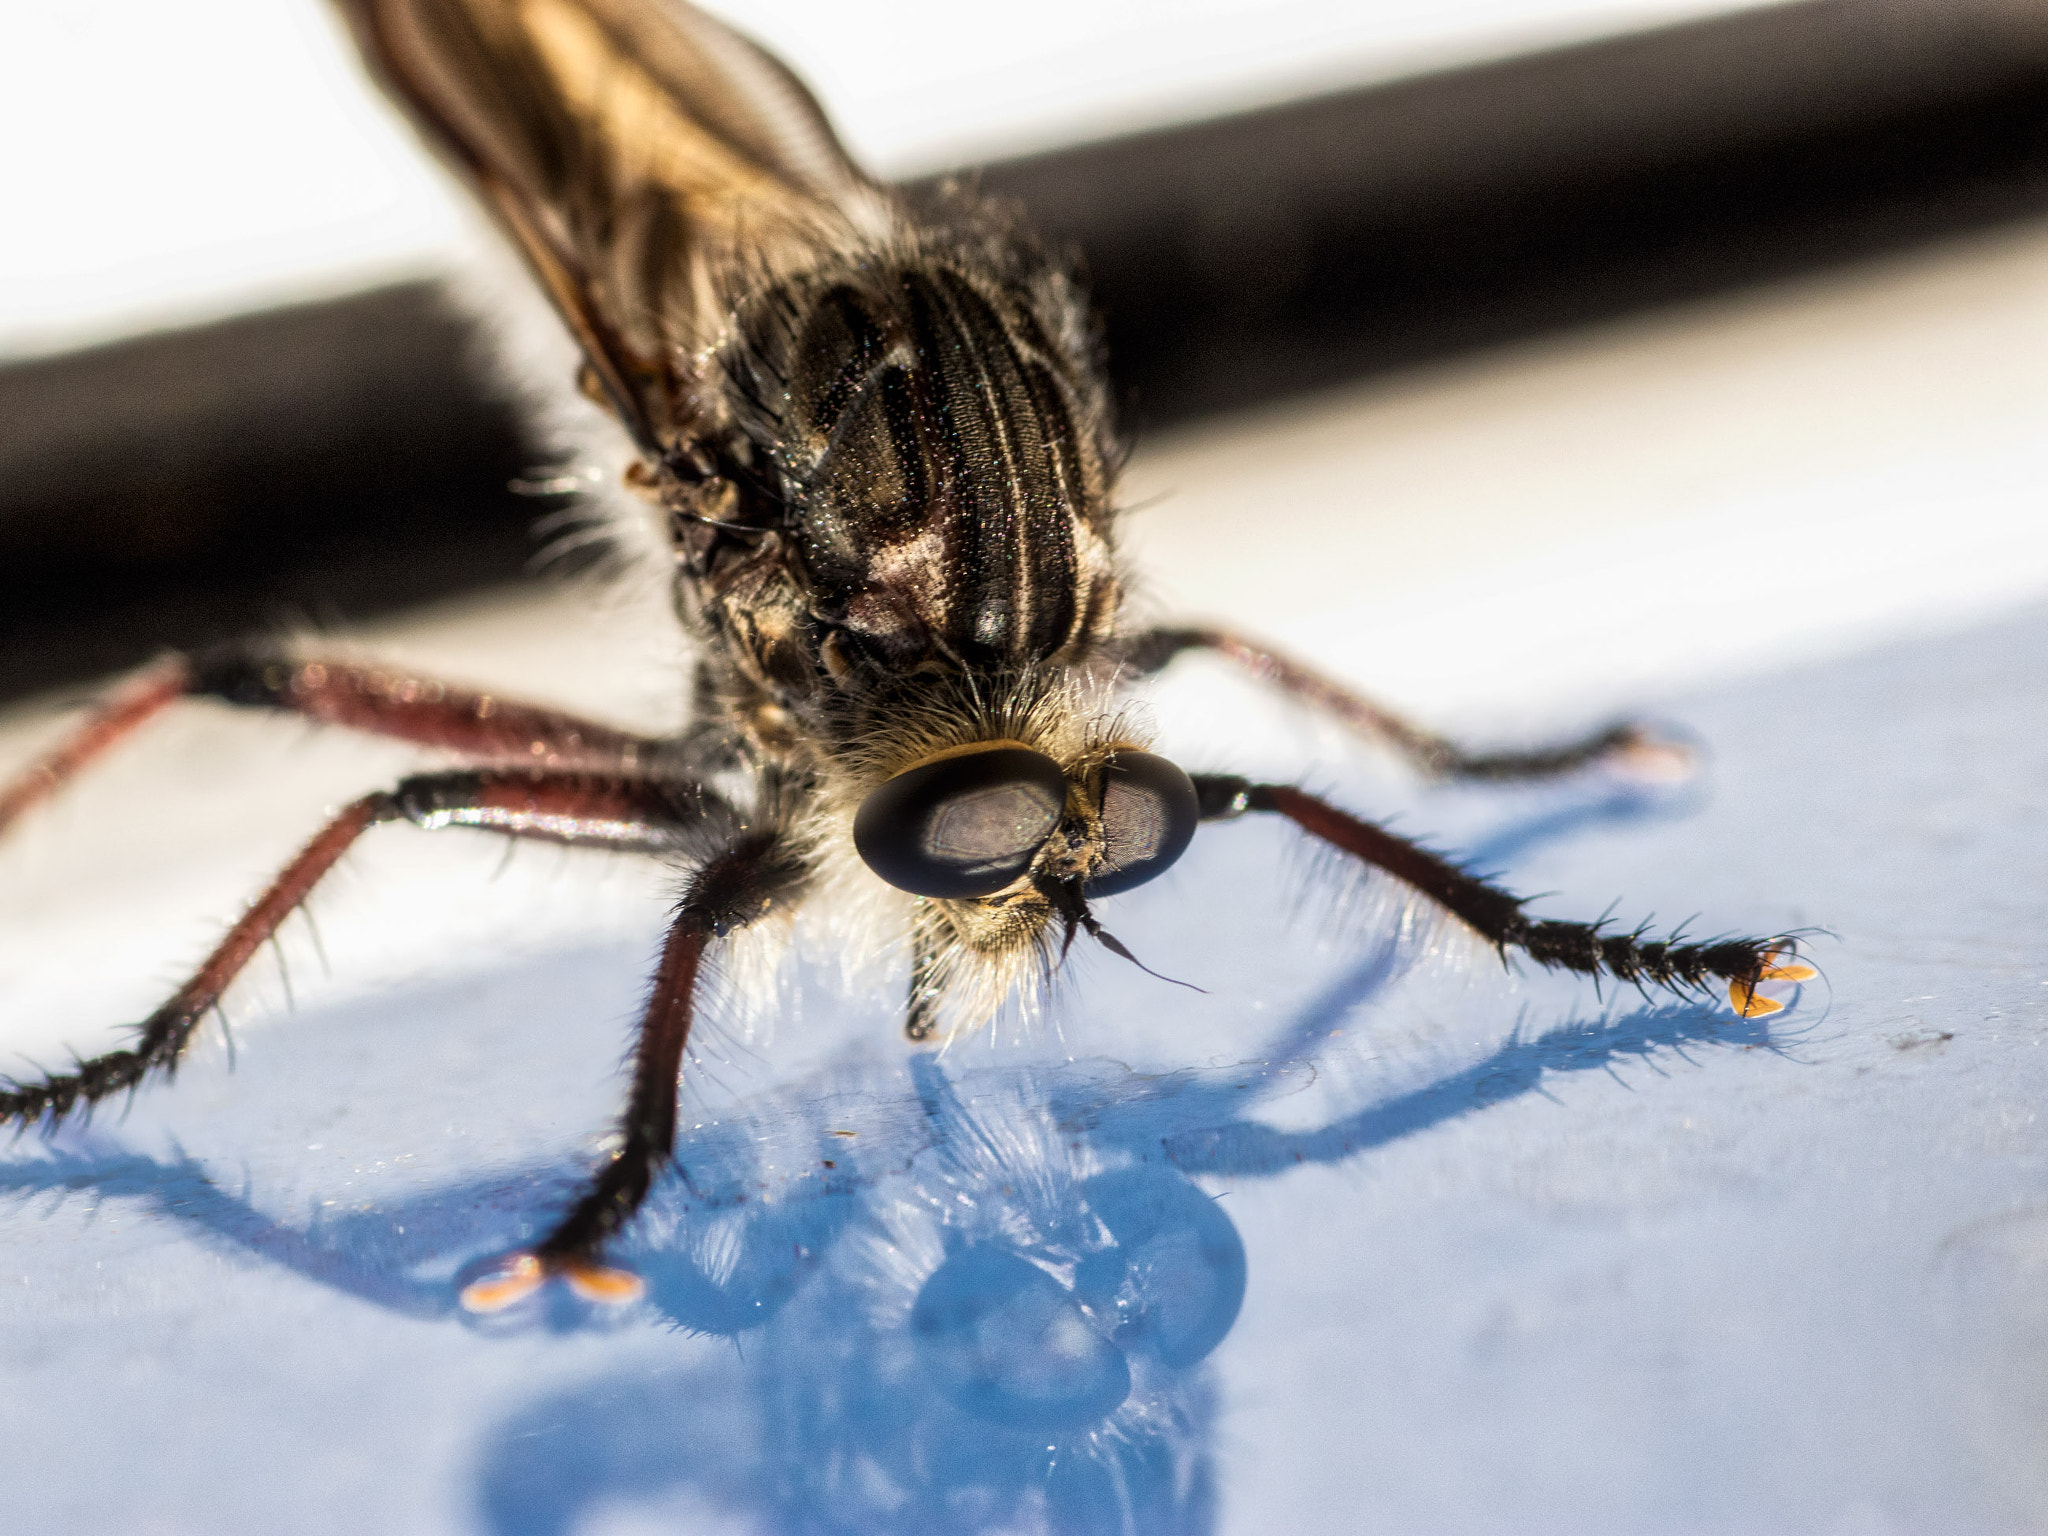
[[647,453],[692,434],[737,262],[768,274],[889,223],[803,84],[684,0],[336,2]]

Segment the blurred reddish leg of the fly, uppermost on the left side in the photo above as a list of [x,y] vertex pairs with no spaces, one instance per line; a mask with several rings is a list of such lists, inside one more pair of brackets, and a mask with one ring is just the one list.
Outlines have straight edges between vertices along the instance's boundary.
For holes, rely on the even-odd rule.
[[403,672],[307,662],[268,643],[219,645],[199,655],[168,655],[135,674],[39,762],[0,784],[0,831],[180,698],[274,709],[440,748],[473,764],[631,774],[649,768],[662,745]]

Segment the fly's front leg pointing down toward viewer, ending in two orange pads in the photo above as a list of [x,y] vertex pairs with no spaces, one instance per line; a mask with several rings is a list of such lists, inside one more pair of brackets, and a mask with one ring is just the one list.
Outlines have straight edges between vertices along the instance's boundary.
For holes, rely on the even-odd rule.
[[676,1085],[705,952],[715,940],[791,901],[807,877],[803,854],[776,827],[739,831],[696,868],[676,907],[641,1016],[618,1149],[555,1231],[463,1288],[469,1311],[502,1311],[555,1276],[588,1300],[625,1303],[641,1294],[639,1278],[606,1268],[602,1253],[639,1210],[676,1147]]

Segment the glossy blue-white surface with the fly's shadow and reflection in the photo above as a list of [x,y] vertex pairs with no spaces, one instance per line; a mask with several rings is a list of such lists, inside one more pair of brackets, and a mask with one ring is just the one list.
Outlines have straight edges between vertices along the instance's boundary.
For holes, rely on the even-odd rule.
[[707,1038],[616,1319],[451,1282],[590,1157],[657,905],[303,1006],[0,1163],[10,1522],[2038,1530],[2044,670],[2032,610],[1673,698],[1714,756],[1665,805],[1313,772],[1544,913],[1825,926],[1769,1026],[1296,903],[1249,821],[1104,907],[1202,995],[1094,954],[932,1057],[801,975]]

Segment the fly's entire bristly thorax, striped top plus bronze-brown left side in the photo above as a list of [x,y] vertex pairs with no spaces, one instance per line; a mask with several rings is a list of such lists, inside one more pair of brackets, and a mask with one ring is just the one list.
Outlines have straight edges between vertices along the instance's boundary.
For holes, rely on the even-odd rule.
[[846,717],[938,676],[1096,670],[1122,582],[1085,305],[963,193],[729,274],[696,426],[637,471],[735,705]]

